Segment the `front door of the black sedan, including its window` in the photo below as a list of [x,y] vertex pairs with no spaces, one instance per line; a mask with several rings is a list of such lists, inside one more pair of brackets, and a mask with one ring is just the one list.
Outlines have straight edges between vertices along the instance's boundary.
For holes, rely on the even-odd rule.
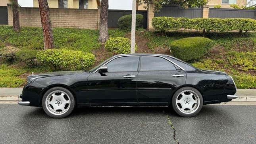
[[86,102],[94,105],[137,104],[139,56],[123,56],[111,60],[106,73],[88,77]]

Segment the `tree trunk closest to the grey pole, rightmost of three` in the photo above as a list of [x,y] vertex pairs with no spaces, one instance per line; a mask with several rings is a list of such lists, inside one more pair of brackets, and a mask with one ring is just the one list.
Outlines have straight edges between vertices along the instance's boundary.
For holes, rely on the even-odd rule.
[[101,0],[100,32],[98,40],[102,43],[108,40],[108,0]]

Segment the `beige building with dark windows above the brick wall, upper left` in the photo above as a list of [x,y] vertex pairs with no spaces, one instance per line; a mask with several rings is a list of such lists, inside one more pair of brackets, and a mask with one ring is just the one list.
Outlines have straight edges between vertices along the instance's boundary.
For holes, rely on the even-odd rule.
[[[98,9],[100,0],[47,0],[50,8]],[[38,0],[33,0],[33,7],[38,8]]]

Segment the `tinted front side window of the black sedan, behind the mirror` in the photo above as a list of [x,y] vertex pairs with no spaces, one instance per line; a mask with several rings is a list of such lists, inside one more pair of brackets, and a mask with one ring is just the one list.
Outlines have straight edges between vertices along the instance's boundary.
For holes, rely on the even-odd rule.
[[108,72],[137,71],[139,56],[125,56],[110,61],[106,66]]

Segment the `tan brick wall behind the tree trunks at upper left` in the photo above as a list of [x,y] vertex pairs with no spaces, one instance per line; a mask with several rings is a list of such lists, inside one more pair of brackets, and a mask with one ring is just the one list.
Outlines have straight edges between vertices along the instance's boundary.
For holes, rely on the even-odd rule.
[[[50,8],[52,27],[79,29],[98,29],[100,10]],[[9,25],[12,22],[12,8],[8,6]],[[42,27],[38,8],[21,8],[19,12],[21,26]]]

